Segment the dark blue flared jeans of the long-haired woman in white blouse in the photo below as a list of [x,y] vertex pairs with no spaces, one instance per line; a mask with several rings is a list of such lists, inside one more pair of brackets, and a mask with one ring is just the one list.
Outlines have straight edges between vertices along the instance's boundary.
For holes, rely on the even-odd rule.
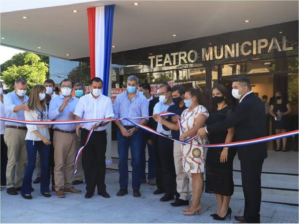
[[40,193],[48,193],[49,190],[49,173],[48,173],[48,162],[50,146],[44,144],[42,141],[26,140],[27,150],[27,167],[25,170],[24,180],[22,184],[21,194],[30,195],[32,188],[32,173],[36,163],[36,153],[40,155]]

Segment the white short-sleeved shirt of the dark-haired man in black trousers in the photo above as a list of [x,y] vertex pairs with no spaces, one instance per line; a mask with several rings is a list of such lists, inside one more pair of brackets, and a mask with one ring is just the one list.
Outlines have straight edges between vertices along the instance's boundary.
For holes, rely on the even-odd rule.
[[[114,117],[112,101],[109,97],[101,94],[97,99],[91,93],[84,95],[79,99],[76,106],[75,115],[82,119],[102,119]],[[84,123],[83,128],[90,130],[92,126],[99,122]],[[96,131],[105,130],[108,126],[99,127]]]

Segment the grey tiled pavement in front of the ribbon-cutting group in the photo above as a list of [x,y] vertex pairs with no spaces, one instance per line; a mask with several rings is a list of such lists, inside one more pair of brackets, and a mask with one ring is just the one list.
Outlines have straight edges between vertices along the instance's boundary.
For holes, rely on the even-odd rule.
[[[129,174],[131,179],[131,173]],[[117,197],[119,190],[118,171],[107,170],[106,184],[110,199],[94,196],[85,199],[85,184],[76,188],[83,191],[80,195],[66,195],[56,198],[44,198],[39,193],[39,184],[33,184],[33,200],[25,200],[20,194],[7,195],[1,191],[1,223],[219,223],[210,217],[215,212],[214,195],[202,196],[202,214],[184,216],[183,207],[171,207],[169,202],[160,202],[161,195],[153,195],[155,186],[143,184],[141,198],[134,198],[129,186],[129,195]],[[129,183],[131,180],[129,181]],[[243,200],[232,199],[232,216],[242,215]],[[233,223],[225,220],[223,223]],[[262,223],[298,223],[298,207],[273,203],[262,203]]]

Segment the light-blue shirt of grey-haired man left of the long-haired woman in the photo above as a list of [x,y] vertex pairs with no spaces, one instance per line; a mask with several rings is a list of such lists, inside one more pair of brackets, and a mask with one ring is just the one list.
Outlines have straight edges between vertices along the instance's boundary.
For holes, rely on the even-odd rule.
[[[12,91],[8,94],[5,95],[3,99],[4,103],[4,108],[5,108],[5,115],[7,118],[13,118],[13,119],[19,119],[19,120],[24,120],[24,111],[20,110],[18,112],[13,112],[13,108],[15,106],[21,105],[23,102],[26,104],[28,102],[29,97],[24,96],[23,101],[16,95],[15,91]],[[20,126],[20,127],[25,127],[25,124],[21,123],[14,123],[14,122],[8,122],[5,121],[5,125],[14,125],[14,126]]]

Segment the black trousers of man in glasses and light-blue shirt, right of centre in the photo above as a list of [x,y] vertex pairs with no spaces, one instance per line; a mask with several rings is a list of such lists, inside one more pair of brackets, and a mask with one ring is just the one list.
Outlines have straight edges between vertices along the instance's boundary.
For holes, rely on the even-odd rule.
[[173,159],[173,141],[168,138],[158,136],[157,143],[163,173],[164,190],[166,194],[175,194],[176,174]]

